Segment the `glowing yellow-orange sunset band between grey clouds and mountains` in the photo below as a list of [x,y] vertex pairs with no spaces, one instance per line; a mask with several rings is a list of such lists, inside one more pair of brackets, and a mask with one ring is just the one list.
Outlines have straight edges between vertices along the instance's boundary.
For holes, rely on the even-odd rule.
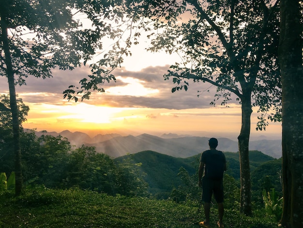
[[[266,132],[256,131],[257,117],[252,118],[252,136],[278,136],[280,124],[272,124]],[[208,109],[168,110],[151,108],[117,108],[66,102],[64,105],[30,104],[24,128],[57,131],[82,131],[94,136],[98,133],[191,134],[219,135],[236,139],[241,129],[239,107],[210,107]]]

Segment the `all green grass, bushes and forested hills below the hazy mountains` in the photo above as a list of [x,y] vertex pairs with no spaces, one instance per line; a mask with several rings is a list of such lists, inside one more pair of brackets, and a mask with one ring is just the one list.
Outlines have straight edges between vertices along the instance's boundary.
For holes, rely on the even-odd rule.
[[[0,156],[0,227],[197,226],[200,154],[176,158],[145,150],[113,159],[94,147],[72,147],[62,136],[22,132],[24,195],[15,197],[14,157],[3,141]],[[225,152],[226,224],[275,227],[281,212],[281,159],[250,152],[254,216],[239,214],[239,154]],[[7,175],[6,175],[6,174]],[[215,204],[214,204],[215,205]],[[215,224],[216,208],[212,208]]]

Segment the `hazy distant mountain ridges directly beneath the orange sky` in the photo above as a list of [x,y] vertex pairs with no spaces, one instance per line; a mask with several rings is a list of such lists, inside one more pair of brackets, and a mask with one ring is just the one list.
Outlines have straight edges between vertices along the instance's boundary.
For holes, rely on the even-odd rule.
[[[98,134],[91,138],[83,132],[71,132],[64,130],[57,132],[36,132],[37,136],[42,134],[50,134],[52,136],[61,135],[69,140],[72,145],[77,147],[81,145],[96,147],[97,152],[105,153],[111,157],[117,158],[126,154],[134,154],[139,151],[152,150],[173,157],[187,158],[197,155],[208,149],[207,137],[182,136],[176,134],[168,134],[172,137],[162,138],[150,134],[141,134],[138,136],[120,134]],[[167,135],[166,135],[167,136]],[[165,136],[164,136],[165,137]],[[225,152],[237,152],[238,142],[227,139],[218,138],[218,150]],[[250,150],[258,150],[273,158],[282,156],[282,145],[280,140],[257,140],[251,141]]]

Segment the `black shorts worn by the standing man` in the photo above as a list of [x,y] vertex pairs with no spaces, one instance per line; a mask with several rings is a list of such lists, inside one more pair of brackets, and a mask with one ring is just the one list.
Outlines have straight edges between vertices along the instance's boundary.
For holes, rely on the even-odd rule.
[[223,203],[223,180],[202,179],[202,201],[210,203],[212,201],[212,193],[217,203]]

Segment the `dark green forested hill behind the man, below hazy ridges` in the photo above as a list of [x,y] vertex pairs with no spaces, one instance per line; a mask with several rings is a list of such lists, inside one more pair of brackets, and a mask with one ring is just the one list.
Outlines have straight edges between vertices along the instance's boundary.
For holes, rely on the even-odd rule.
[[[225,152],[225,155],[227,159],[226,173],[236,180],[240,179],[239,153]],[[199,157],[200,153],[188,158],[175,158],[155,151],[145,150],[118,157],[115,162],[131,161],[132,163],[140,163],[140,170],[142,174],[145,174],[143,179],[149,184],[149,192],[165,198],[171,194],[173,188],[183,184],[182,179],[178,176],[181,167],[190,176],[197,175]],[[271,161],[276,161],[276,159],[260,151],[250,151],[251,171]],[[274,169],[277,168],[274,167]],[[274,170],[273,173],[277,173],[277,171]],[[263,176],[266,175],[264,173]],[[194,180],[197,180],[197,177]]]

